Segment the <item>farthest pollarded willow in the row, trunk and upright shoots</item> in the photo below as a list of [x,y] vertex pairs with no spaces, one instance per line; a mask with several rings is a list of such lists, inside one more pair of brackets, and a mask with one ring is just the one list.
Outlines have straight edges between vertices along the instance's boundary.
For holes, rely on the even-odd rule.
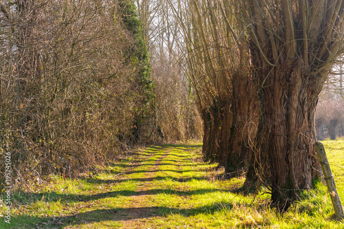
[[193,84],[204,123],[204,158],[224,165],[232,122],[228,71],[233,66],[230,60],[233,54],[224,49],[229,47],[230,34],[224,32],[224,21],[217,20],[219,12],[215,12],[211,2],[170,3],[182,28],[180,43],[185,42],[186,46],[182,50],[186,56],[186,74]]

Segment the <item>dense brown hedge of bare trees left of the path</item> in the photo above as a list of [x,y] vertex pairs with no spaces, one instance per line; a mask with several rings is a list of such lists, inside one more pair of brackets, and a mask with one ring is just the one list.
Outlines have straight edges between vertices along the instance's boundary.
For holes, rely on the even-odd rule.
[[73,173],[161,140],[133,1],[1,1],[0,10],[0,144],[14,176]]

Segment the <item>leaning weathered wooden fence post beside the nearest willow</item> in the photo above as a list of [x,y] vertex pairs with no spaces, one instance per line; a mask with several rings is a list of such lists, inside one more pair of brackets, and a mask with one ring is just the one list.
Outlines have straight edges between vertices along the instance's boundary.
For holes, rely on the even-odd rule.
[[315,143],[315,150],[318,154],[321,168],[323,169],[323,175],[326,182],[326,186],[328,189],[328,192],[330,193],[330,197],[332,200],[332,205],[334,208],[334,213],[336,214],[336,218],[338,220],[343,219],[343,205],[341,204],[341,199],[339,199],[336,184],[334,183],[332,171],[330,168],[330,164],[328,163],[327,156],[325,153],[325,149],[323,148],[323,144],[321,142]]

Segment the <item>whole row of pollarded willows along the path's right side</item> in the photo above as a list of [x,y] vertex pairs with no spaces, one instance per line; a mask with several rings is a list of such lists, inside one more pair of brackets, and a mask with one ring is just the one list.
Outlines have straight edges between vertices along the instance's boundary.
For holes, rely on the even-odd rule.
[[[320,177],[314,113],[343,51],[342,1],[169,1],[179,21],[203,153],[288,208]],[[188,9],[188,10],[186,10]],[[185,13],[183,13],[185,12]]]

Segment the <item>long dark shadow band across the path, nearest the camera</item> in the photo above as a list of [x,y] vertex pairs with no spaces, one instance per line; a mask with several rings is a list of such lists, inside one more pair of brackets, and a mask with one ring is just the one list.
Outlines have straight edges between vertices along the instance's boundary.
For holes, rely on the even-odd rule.
[[82,226],[85,223],[100,221],[127,221],[149,217],[166,217],[175,214],[183,215],[184,217],[195,216],[202,213],[213,215],[223,208],[230,210],[233,208],[233,204],[230,203],[230,201],[223,201],[190,209],[169,208],[165,206],[97,209],[62,217],[30,217],[21,215],[12,218],[12,227],[9,228],[23,228],[23,224],[25,224],[25,228],[65,228],[67,226]]

